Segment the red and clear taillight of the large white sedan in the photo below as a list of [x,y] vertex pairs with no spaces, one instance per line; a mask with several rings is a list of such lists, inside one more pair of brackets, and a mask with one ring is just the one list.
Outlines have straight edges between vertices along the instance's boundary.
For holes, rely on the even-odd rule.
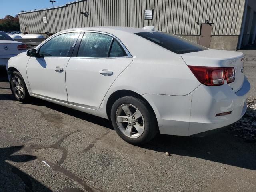
[[188,66],[198,81],[207,86],[223,85],[224,80],[232,83],[235,80],[234,67]]

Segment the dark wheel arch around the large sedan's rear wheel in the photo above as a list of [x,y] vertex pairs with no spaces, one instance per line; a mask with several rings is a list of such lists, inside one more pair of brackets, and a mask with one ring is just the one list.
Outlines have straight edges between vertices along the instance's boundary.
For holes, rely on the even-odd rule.
[[[107,101],[107,104],[106,104],[106,113],[107,113],[107,116],[108,116],[109,119],[111,119],[110,118],[110,112],[111,112],[112,105],[114,104],[114,102],[116,100],[118,100],[119,98],[124,97],[124,96],[133,96],[133,97],[139,98],[139,99],[143,100],[144,102],[146,102],[150,111],[154,114],[154,118],[156,119],[156,122],[157,122],[156,114],[155,114],[152,106],[150,105],[150,103],[143,96],[141,96],[140,94],[138,94],[134,91],[131,91],[131,90],[126,90],[126,89],[117,90],[117,91],[113,92],[110,95],[110,97],[108,98],[108,101]],[[159,128],[158,128],[158,130],[159,130]]]

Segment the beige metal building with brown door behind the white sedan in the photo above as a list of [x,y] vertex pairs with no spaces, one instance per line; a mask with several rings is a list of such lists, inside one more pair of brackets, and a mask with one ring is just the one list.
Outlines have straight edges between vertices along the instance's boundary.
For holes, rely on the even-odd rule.
[[78,0],[18,15],[21,31],[34,34],[154,25],[210,48],[239,49],[256,43],[256,0]]

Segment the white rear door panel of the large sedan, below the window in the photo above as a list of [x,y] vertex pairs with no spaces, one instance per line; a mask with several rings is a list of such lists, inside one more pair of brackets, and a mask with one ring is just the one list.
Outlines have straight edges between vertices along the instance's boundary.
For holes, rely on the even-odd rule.
[[[68,102],[86,108],[99,108],[112,83],[131,62],[132,57],[70,58],[66,69]],[[112,71],[113,74],[104,76],[100,74],[102,70]]]

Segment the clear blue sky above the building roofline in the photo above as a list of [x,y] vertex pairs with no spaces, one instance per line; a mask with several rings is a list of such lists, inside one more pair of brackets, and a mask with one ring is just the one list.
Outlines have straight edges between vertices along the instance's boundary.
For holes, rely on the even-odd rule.
[[[15,16],[21,10],[30,11],[52,7],[50,0],[0,0],[0,19],[6,15]],[[54,6],[64,5],[75,0],[55,0]]]

